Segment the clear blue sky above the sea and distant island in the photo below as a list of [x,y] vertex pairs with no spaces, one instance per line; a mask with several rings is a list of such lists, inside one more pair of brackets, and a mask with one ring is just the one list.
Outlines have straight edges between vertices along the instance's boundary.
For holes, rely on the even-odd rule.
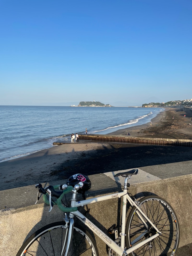
[[191,0],[0,0],[0,105],[192,98]]

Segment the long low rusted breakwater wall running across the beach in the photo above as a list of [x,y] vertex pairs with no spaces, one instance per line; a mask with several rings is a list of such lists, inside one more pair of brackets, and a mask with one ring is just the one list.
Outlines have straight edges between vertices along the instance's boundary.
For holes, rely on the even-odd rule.
[[164,138],[144,138],[126,136],[106,136],[106,135],[79,135],[81,140],[104,141],[104,142],[126,142],[153,145],[173,145],[192,146],[192,140],[164,139]]

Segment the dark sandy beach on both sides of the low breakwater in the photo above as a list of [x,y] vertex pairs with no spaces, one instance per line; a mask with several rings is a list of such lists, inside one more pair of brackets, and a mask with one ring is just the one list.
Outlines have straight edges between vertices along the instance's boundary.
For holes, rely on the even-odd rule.
[[[184,115],[186,117],[184,118]],[[173,118],[174,117],[174,118]],[[192,111],[167,108],[150,124],[121,129],[109,135],[192,140]],[[171,150],[170,150],[171,148]],[[80,141],[51,147],[0,163],[0,190],[85,175],[191,160],[188,147]]]

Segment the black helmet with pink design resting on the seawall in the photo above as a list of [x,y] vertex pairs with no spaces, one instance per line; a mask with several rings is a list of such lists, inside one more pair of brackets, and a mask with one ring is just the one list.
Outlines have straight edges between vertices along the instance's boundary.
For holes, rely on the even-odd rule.
[[67,185],[74,187],[77,184],[80,186],[78,190],[78,192],[80,193],[83,193],[84,191],[87,191],[91,188],[90,179],[81,173],[75,174],[69,177],[69,179],[67,180]]

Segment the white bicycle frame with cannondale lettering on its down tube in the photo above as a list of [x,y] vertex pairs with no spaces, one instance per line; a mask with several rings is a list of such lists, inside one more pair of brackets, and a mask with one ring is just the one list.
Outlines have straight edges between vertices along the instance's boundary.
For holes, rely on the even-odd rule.
[[[92,199],[87,199],[87,200],[82,200],[82,201],[76,201],[76,195],[75,197],[71,200],[71,207],[80,207],[88,204],[92,204],[94,202],[100,202],[104,200],[109,200],[112,198],[121,198],[123,197],[123,206],[122,206],[122,225],[121,225],[121,246],[118,246],[110,237],[108,237],[103,231],[101,231],[96,225],[94,225],[88,218],[86,218],[83,214],[81,214],[79,211],[75,212],[70,212],[69,217],[70,220],[76,216],[79,220],[81,220],[90,230],[92,230],[101,240],[103,240],[109,247],[111,247],[117,254],[123,256],[126,254],[129,254],[133,252],[134,250],[138,249],[139,247],[143,246],[144,244],[148,243],[149,241],[153,240],[157,236],[161,235],[161,232],[154,226],[154,224],[148,219],[148,217],[143,213],[143,211],[135,204],[135,202],[131,199],[131,197],[127,194],[127,189],[124,187],[124,190],[120,193],[115,193],[115,194],[110,194],[106,196],[100,196],[100,197],[95,197]],[[137,242],[138,240],[141,239],[142,236],[144,236],[145,233],[142,235],[138,236],[133,242],[133,246],[130,248],[125,248],[125,219],[126,219],[126,202],[129,202],[131,206],[135,206],[137,208],[137,215],[138,217],[142,220],[144,225],[147,226],[146,221],[148,221],[154,229],[157,231],[156,234],[153,236],[145,239],[144,241],[136,244],[134,246],[134,243]],[[146,221],[145,221],[146,220]],[[70,224],[70,229],[73,229],[73,224]],[[71,231],[69,232],[71,233]],[[71,243],[71,236],[69,234],[68,236],[68,242],[67,242],[67,247],[70,246]],[[66,254],[65,254],[66,255]]]

